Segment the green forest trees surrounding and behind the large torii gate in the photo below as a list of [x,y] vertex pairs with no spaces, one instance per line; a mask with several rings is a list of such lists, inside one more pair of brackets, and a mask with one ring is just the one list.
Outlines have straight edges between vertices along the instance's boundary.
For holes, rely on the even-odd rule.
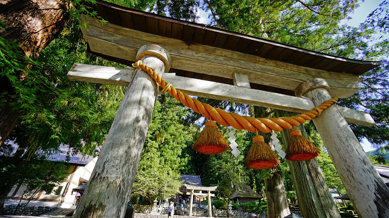
[[[88,0],[93,2],[93,0]],[[125,87],[70,81],[66,74],[73,63],[86,63],[125,68],[87,52],[80,31],[81,14],[98,16],[86,10],[84,1],[56,1],[56,5],[42,5],[34,0],[10,0],[0,8],[0,149],[2,190],[20,183],[15,174],[28,161],[47,158],[59,151],[61,144],[69,145],[68,155],[98,155],[126,91]],[[389,3],[384,0],[366,17],[359,27],[342,24],[358,7],[357,0],[111,0],[110,2],[164,16],[196,21],[196,11],[210,12],[214,27],[254,35],[273,41],[307,48],[327,54],[359,60],[381,61],[382,65],[362,75],[360,91],[339,104],[369,112],[376,125],[351,125],[359,140],[366,138],[375,148],[371,155],[375,164],[387,164],[385,149],[389,140],[388,93],[388,31]],[[29,5],[29,7],[23,7]],[[18,7],[16,7],[18,5]],[[42,10],[42,7],[44,8]],[[12,10],[11,10],[12,9]],[[47,20],[37,35],[35,26],[10,19],[38,16]],[[36,15],[36,13],[41,13]],[[22,19],[20,19],[22,20]],[[22,37],[21,37],[22,36]],[[249,105],[201,99],[214,107],[254,116]],[[264,116],[274,116],[271,109]],[[166,198],[174,195],[179,184],[178,175],[201,175],[205,186],[218,186],[216,199],[228,202],[233,187],[247,184],[265,196],[265,179],[272,170],[257,171],[245,167],[245,156],[252,144],[252,133],[235,130],[236,142],[242,155],[232,156],[230,150],[206,156],[192,148],[203,126],[204,119],[185,108],[168,95],[160,95],[153,112],[144,144],[133,194]],[[12,125],[11,125],[12,124]],[[317,158],[329,188],[341,194],[345,189],[336,174],[312,122],[304,125],[310,139],[321,148]],[[228,138],[229,127],[219,127]],[[4,132],[9,136],[4,137]],[[8,140],[7,140],[8,139]],[[5,142],[5,143],[4,143]],[[18,145],[16,149],[14,144]],[[281,160],[284,188],[294,202],[288,164]],[[4,177],[3,177],[4,176]],[[161,178],[155,181],[150,178]],[[146,183],[145,183],[146,181]],[[153,189],[158,184],[172,186]],[[5,193],[5,191],[3,191]],[[2,194],[4,194],[2,193]],[[2,198],[2,202],[4,198]]]

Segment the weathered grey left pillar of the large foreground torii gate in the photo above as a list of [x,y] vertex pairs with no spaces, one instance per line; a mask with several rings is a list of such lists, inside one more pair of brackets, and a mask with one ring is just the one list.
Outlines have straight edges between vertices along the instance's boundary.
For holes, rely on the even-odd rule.
[[[163,62],[154,56],[141,61],[159,75],[164,71]],[[156,82],[137,69],[74,218],[124,217],[157,94]]]

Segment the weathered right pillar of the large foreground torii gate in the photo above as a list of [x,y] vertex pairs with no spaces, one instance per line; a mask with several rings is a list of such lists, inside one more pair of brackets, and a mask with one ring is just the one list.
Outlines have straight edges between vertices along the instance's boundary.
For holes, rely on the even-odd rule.
[[[310,85],[303,95],[317,106],[331,99],[324,83],[324,79],[305,82]],[[339,110],[330,106],[313,121],[358,216],[389,218],[389,189]]]

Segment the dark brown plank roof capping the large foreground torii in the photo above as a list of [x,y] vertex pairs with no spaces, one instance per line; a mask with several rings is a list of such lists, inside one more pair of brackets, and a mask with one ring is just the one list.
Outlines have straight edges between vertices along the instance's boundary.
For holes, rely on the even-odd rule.
[[[159,36],[247,53],[270,60],[333,72],[362,74],[381,62],[360,61],[295,47],[252,35],[179,20],[96,0],[92,9],[112,24]],[[176,71],[174,71],[176,72]]]

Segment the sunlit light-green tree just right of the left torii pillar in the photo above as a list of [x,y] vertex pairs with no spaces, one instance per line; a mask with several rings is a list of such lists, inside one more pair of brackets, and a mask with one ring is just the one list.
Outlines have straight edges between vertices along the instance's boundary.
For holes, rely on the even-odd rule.
[[[182,185],[179,171],[184,170],[190,156],[182,154],[197,131],[186,124],[184,117],[189,109],[169,95],[161,95],[156,101],[152,121],[147,132],[144,149],[135,177],[133,194],[144,195],[149,202],[155,198],[175,196]],[[191,134],[192,133],[192,134]]]

